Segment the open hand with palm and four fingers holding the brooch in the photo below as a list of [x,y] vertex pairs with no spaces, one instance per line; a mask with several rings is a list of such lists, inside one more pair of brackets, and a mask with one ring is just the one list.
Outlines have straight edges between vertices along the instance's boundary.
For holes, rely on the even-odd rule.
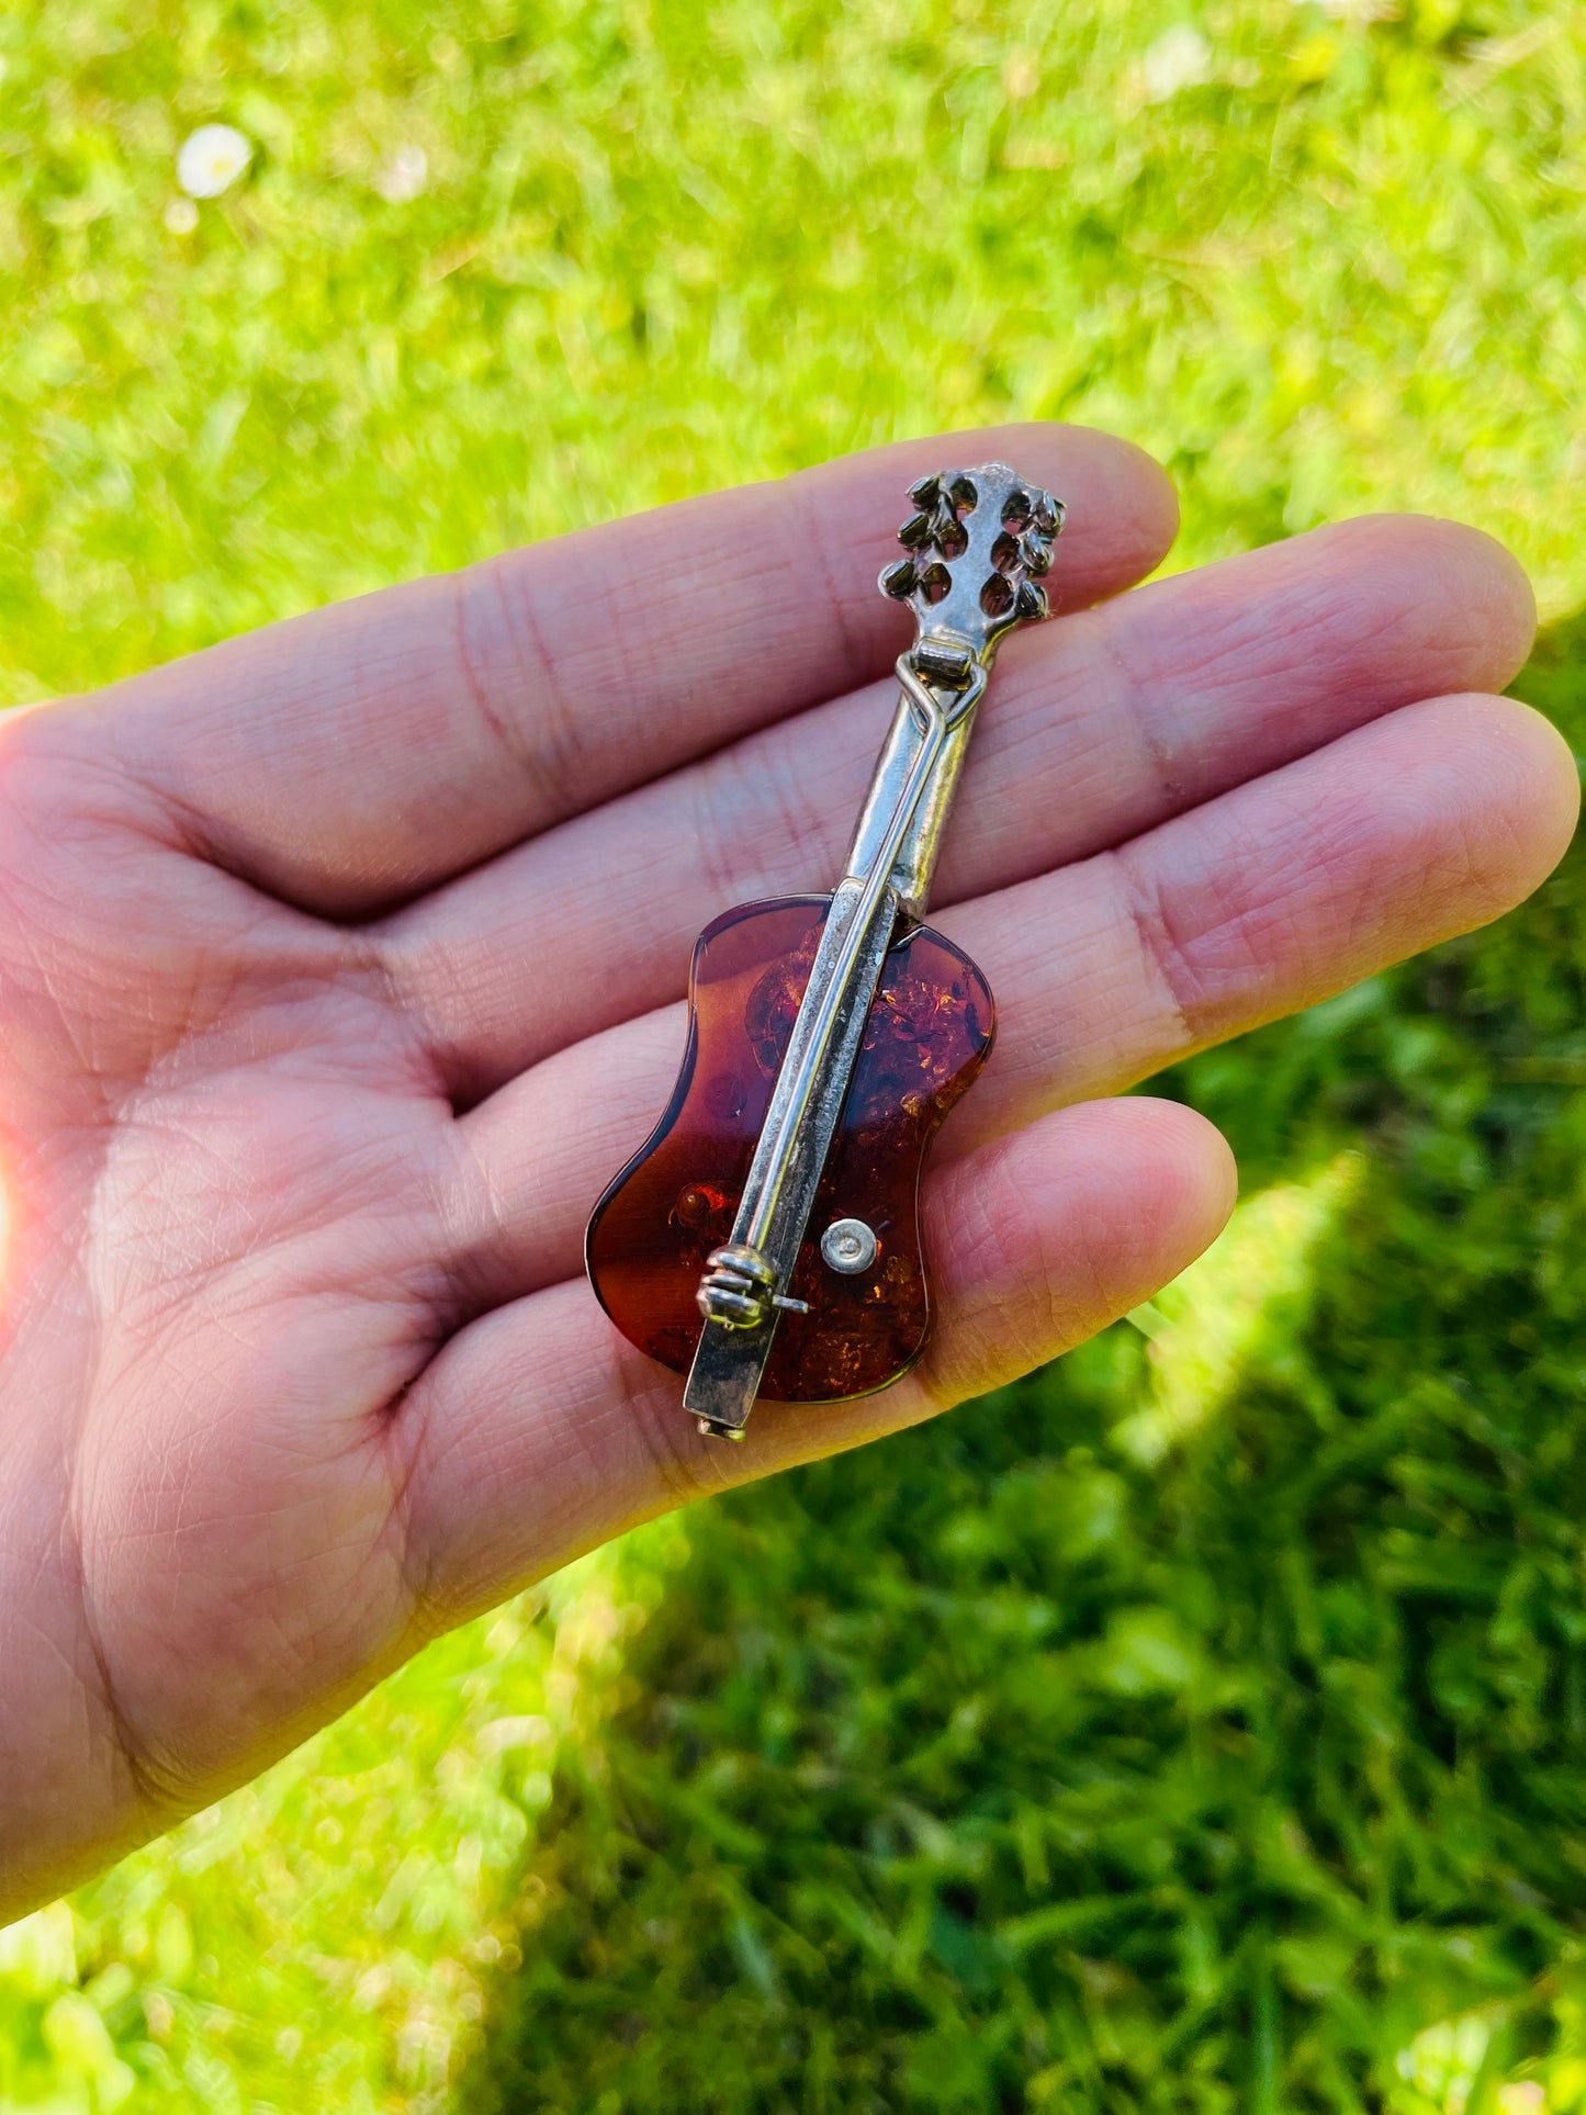
[[[903,491],[988,457],[1070,514],[937,886],[1002,1030],[928,1172],[935,1347],[723,1447],[598,1313],[584,1218],[696,931],[835,876]],[[1174,522],[1100,434],[909,442],[4,721],[0,1920],[607,1535],[1138,1305],[1233,1167],[1108,1096],[1550,871],[1575,770],[1491,696],[1504,550],[1370,518],[1125,594]]]

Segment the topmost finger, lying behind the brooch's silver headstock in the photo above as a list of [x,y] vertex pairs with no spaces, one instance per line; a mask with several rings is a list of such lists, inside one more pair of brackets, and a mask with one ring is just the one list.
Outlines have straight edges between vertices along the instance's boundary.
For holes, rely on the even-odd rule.
[[1163,472],[1064,425],[901,442],[508,552],[235,639],[70,709],[197,852],[364,914],[882,673],[907,486],[1013,457],[1070,505],[1053,596],[1148,573]]

